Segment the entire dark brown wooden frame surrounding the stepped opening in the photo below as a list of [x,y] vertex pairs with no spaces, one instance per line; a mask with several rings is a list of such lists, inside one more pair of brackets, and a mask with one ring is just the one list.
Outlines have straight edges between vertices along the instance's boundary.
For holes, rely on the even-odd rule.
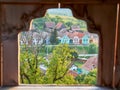
[[[95,1],[96,1],[96,3],[95,3]],[[20,30],[27,29],[28,28],[27,25],[29,25],[30,20],[33,19],[32,17],[35,18],[35,17],[44,16],[45,10],[48,8],[51,8],[51,7],[53,7],[53,8],[58,7],[57,6],[58,2],[59,2],[58,0],[54,0],[53,2],[49,2],[49,0],[48,0],[48,2],[42,2],[42,3],[24,2],[24,1],[23,2],[15,2],[14,0],[13,0],[13,2],[7,2],[6,0],[0,1],[0,11],[2,12],[2,13],[0,13],[0,20],[1,20],[0,21],[0,27],[1,27],[0,28],[1,29],[0,36],[2,36],[1,33],[8,32],[9,29],[17,29],[18,30],[17,34],[20,32]],[[107,3],[102,4],[101,7],[99,6],[102,3],[101,0],[93,0],[91,2],[91,3],[94,2],[93,6],[91,5],[89,0],[86,0],[86,2],[78,2],[78,3],[76,3],[76,2],[77,1],[75,1],[75,2],[61,1],[61,3],[62,3],[61,7],[70,8],[73,11],[73,14],[76,18],[87,21],[89,31],[97,33],[100,37],[100,39],[99,39],[100,40],[99,61],[98,61],[98,74],[99,75],[98,75],[97,85],[106,86],[106,87],[120,87],[119,81],[117,81],[117,79],[120,80],[120,77],[119,77],[120,71],[118,70],[120,65],[117,64],[117,62],[119,63],[119,61],[120,61],[120,58],[118,58],[119,50],[117,50],[117,48],[119,49],[119,44],[120,44],[120,41],[118,39],[118,37],[119,37],[118,32],[120,31],[120,30],[118,31],[119,26],[120,26],[120,23],[118,22],[119,21],[119,16],[118,16],[119,10],[117,11],[117,7],[119,7],[119,5],[117,6],[117,3],[119,2],[119,0],[115,0],[114,3],[111,3],[112,2],[111,1],[110,2],[111,4],[108,4],[109,1],[107,1]],[[28,7],[30,7],[30,9],[27,8],[28,10],[26,9],[25,12],[22,12],[22,10],[21,10],[22,14],[20,13],[21,17],[19,17],[19,19],[22,23],[19,22],[20,25],[18,25],[18,26],[13,25],[13,26],[9,27],[10,19],[7,14],[12,15],[12,13],[10,13],[9,10],[11,10],[11,8],[13,8],[13,7],[16,7],[17,5],[23,6],[23,7],[28,6]],[[10,8],[9,8],[9,6],[10,6]],[[35,7],[38,7],[38,8],[35,8]],[[19,7],[17,7],[17,8],[19,10]],[[104,15],[101,13],[102,12],[101,8],[103,8],[102,9],[103,11],[106,11]],[[97,16],[98,15],[97,13],[99,13],[97,11],[97,9],[100,10],[99,11],[100,16]],[[31,10],[32,10],[32,12],[29,12]],[[38,13],[36,11],[37,12],[40,11],[41,15],[38,15]],[[109,15],[110,12],[112,13],[112,15]],[[16,17],[17,17],[17,14],[16,14]],[[14,18],[16,18],[16,17],[14,17]],[[104,22],[102,23],[101,20],[99,19],[99,17],[103,17],[103,18],[105,17],[103,20],[106,23],[108,23],[108,21],[109,21],[109,19],[107,17],[110,17],[110,18],[112,17],[113,19],[111,18],[111,22],[109,22],[112,25],[112,26],[110,26],[111,28],[108,27],[108,24],[106,24]],[[18,20],[18,18],[16,18],[16,20]],[[7,21],[7,23],[4,21]],[[8,27],[5,27],[4,24]],[[101,25],[101,28],[99,27],[99,25]],[[104,25],[106,25],[106,26],[104,26]],[[109,31],[109,35],[107,37],[106,32],[108,29],[111,29],[111,30]],[[114,32],[114,30],[116,30],[116,32]],[[19,58],[18,57],[19,56],[19,53],[18,53],[19,48],[18,48],[17,34],[15,36],[16,39],[13,41],[2,42],[2,39],[0,39],[0,45],[1,45],[1,48],[0,48],[0,54],[1,54],[0,85],[1,86],[2,85],[3,86],[19,85],[19,63],[18,63],[19,62],[19,59],[18,59]],[[108,41],[109,40],[108,38],[111,38],[112,41]],[[106,46],[107,42],[114,43],[115,45],[112,45],[111,48],[110,48],[110,46],[108,46],[110,49],[110,50],[108,50],[108,48]],[[10,44],[10,45],[7,45],[7,44]],[[10,48],[14,48],[13,52],[15,55],[13,55],[13,54],[10,54],[11,56],[6,55],[6,54],[10,53],[10,52],[7,52],[7,50],[11,50]],[[9,61],[9,59],[11,61]],[[105,59],[106,59],[106,61],[104,61]],[[110,59],[110,62],[108,59]],[[114,64],[112,64],[112,62]],[[108,66],[105,66],[105,63],[107,63]],[[7,65],[9,67],[8,70],[7,70]],[[12,65],[13,65],[13,67],[11,67]],[[103,68],[106,70],[106,72]],[[7,72],[9,70],[11,71],[10,76],[8,75],[8,72]],[[111,73],[112,73],[112,75],[111,75]],[[11,75],[13,75],[13,76],[11,76]],[[110,79],[110,80],[108,80],[108,79]]]

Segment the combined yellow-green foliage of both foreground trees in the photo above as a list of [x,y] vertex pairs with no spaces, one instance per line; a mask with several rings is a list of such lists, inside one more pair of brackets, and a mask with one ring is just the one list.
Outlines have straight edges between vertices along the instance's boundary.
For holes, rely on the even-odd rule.
[[[74,78],[68,75],[69,68],[75,62],[74,49],[68,45],[58,45],[54,48],[49,61],[43,59],[38,54],[30,52],[24,47],[21,52],[21,83],[26,84],[76,84]],[[40,65],[47,67],[46,73],[40,69]]]

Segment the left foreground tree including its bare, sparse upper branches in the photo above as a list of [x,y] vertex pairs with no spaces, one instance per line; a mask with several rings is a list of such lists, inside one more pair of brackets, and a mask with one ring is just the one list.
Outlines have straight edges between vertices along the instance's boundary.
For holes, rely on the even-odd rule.
[[39,33],[37,43],[34,45],[33,32],[24,32],[21,34],[21,41],[23,44],[20,49],[20,76],[21,83],[24,84],[39,84],[42,83],[42,77],[44,73],[40,70],[40,64],[44,63],[43,56],[40,56],[43,43],[38,45],[38,42],[42,39],[42,33]]

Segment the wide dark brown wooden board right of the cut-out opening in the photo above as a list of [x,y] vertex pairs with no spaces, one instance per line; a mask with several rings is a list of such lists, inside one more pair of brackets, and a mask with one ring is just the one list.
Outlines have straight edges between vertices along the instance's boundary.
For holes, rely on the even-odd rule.
[[97,85],[112,87],[116,4],[88,5],[88,16],[96,25],[96,30],[89,31],[98,31],[100,36]]

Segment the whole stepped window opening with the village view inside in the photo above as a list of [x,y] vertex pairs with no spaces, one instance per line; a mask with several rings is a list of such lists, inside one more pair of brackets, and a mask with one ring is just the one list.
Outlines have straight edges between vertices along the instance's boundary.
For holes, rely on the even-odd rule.
[[70,9],[48,9],[20,34],[20,82],[95,85],[98,43]]

